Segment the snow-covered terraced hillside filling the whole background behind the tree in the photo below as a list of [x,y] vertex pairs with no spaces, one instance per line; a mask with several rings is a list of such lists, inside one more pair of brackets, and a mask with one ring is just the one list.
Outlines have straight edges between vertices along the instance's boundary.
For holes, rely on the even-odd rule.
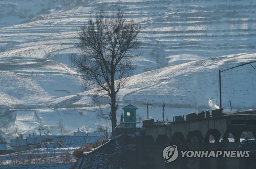
[[[256,58],[256,2],[244,1],[0,1],[0,129],[24,133],[38,125],[68,133],[86,125],[110,126],[97,116],[93,91],[69,56],[78,53],[77,29],[89,16],[120,8],[141,24],[140,57],[118,93],[138,117],[162,120],[219,105],[219,74]],[[253,67],[252,67],[253,66]],[[222,72],[224,112],[256,109],[256,63]],[[7,106],[10,111],[4,109]],[[108,103],[102,106],[110,111]]]

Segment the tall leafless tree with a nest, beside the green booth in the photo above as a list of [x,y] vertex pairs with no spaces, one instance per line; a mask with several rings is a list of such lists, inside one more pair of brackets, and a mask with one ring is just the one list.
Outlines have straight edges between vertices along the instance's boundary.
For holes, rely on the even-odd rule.
[[111,16],[100,11],[78,30],[80,55],[72,55],[71,61],[84,79],[84,90],[95,85],[97,96],[110,97],[111,112],[101,115],[111,120],[112,131],[117,125],[116,95],[132,73],[129,59],[134,55],[129,51],[139,48],[140,29],[139,24],[118,9]]

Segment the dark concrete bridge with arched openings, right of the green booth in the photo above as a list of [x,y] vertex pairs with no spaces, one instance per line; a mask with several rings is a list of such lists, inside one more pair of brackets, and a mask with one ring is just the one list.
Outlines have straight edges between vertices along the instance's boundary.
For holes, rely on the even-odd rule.
[[212,115],[201,112],[188,114],[186,120],[184,116],[173,119],[173,122],[167,124],[156,123],[153,119],[143,121],[145,134],[151,135],[156,144],[209,143],[211,135],[214,142],[220,142],[221,137],[228,142],[230,133],[235,142],[239,142],[243,132],[251,132],[256,138],[256,111],[223,114],[222,110],[213,110]]

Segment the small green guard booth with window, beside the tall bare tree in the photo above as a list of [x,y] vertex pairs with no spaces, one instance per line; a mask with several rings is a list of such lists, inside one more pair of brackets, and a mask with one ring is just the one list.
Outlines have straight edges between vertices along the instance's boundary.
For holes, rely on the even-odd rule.
[[124,110],[124,127],[125,128],[136,128],[136,116],[138,108],[129,104],[126,107],[123,107]]

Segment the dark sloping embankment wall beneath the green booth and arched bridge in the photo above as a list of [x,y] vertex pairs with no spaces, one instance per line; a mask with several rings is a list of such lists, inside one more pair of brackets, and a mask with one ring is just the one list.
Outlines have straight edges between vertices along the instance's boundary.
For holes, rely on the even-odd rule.
[[[131,130],[130,130],[131,131]],[[128,132],[128,130],[127,130]],[[157,144],[158,143],[158,144]],[[178,146],[179,156],[175,161],[166,163],[163,149],[165,142],[155,142],[151,135],[118,135],[95,151],[84,155],[78,168],[176,168],[176,169],[247,169],[256,166],[256,140],[251,144],[235,142],[183,143]],[[239,147],[240,146],[240,147]],[[217,151],[250,150],[249,158],[198,158],[182,157],[180,151]]]

